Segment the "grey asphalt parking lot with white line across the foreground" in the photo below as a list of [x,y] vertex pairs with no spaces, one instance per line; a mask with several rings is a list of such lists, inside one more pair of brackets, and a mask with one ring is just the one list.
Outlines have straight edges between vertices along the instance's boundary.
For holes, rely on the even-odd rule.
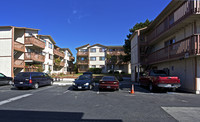
[[119,91],[72,90],[46,86],[17,90],[0,86],[0,121],[200,121],[200,96],[181,92],[156,92],[122,82]]

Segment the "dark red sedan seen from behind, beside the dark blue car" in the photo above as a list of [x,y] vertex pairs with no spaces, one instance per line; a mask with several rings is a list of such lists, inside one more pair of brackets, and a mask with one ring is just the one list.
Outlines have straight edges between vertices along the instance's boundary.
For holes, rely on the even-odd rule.
[[103,89],[119,90],[119,81],[115,76],[104,76],[99,81],[99,90]]

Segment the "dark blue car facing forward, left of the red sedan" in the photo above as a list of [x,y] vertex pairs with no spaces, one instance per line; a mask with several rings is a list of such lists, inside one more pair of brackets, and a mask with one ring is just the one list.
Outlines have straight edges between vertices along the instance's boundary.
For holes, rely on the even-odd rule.
[[73,83],[73,89],[92,89],[93,80],[90,75],[80,75]]

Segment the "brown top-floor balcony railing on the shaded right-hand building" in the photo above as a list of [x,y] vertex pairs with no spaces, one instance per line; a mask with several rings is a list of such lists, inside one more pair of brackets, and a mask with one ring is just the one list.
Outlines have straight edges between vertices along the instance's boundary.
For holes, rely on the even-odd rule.
[[194,13],[200,12],[199,0],[187,0],[176,11],[167,16],[149,35],[147,35],[148,43],[153,42],[162,33],[166,32],[176,24],[180,23],[184,18]]

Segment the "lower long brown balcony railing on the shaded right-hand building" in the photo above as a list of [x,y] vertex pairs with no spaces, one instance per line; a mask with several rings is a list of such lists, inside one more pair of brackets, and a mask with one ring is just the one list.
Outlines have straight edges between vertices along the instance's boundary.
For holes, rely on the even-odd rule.
[[200,54],[200,35],[193,35],[168,47],[153,52],[147,57],[148,64],[167,60],[188,58]]

